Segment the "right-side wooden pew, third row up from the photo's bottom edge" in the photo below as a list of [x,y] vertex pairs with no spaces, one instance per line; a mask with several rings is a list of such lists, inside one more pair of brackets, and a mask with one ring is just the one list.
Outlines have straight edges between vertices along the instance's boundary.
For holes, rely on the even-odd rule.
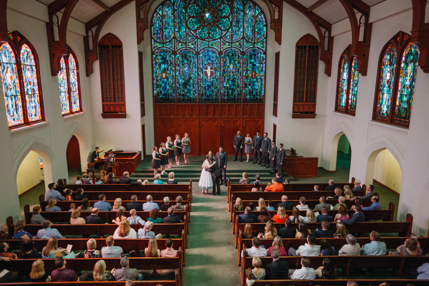
[[[241,233],[242,232],[240,231],[240,234]],[[343,247],[343,245],[347,244],[345,238],[316,238],[315,244],[319,245],[320,241],[322,239],[326,239],[327,241],[329,241],[329,244],[331,246],[335,247],[335,249],[337,249],[337,250],[341,249],[341,247]],[[405,239],[407,239],[407,237],[385,237],[385,238],[380,238],[380,241],[383,241],[386,244],[387,249],[396,249],[396,247],[404,244]],[[360,246],[363,246],[364,244],[370,243],[369,238],[356,238],[356,240]],[[273,239],[260,239],[260,245],[263,245],[263,246],[265,246],[266,249],[269,249],[269,247],[272,246],[272,241],[273,241]],[[429,251],[429,238],[428,237],[426,237],[426,238],[420,237],[420,238],[418,238],[418,241],[420,243],[420,247],[423,250],[423,253],[428,253],[428,251]],[[298,249],[298,247],[307,243],[307,239],[305,239],[305,238],[283,238],[282,242],[283,242],[283,247],[287,252],[287,250],[290,247]],[[239,237],[238,237],[238,251],[237,251],[237,261],[239,262],[239,265],[241,263],[240,260],[241,260],[241,253],[242,253],[243,245],[246,248],[251,248],[252,247],[252,239],[251,238],[242,238],[242,235],[239,235]]]

